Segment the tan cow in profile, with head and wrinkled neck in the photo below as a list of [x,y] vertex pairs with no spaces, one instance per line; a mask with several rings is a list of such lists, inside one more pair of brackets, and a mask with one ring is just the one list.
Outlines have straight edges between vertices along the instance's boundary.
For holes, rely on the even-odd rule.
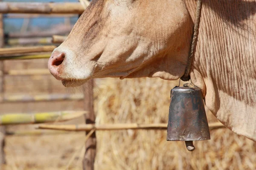
[[[103,77],[183,76],[197,0],[92,0],[49,71],[66,87]],[[256,141],[256,1],[202,0],[189,72],[226,127]]]

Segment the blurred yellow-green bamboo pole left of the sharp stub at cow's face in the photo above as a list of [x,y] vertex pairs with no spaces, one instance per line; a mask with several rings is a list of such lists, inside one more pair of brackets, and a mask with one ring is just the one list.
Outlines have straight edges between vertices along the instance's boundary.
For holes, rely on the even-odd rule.
[[51,37],[43,38],[8,38],[5,40],[7,45],[31,45],[31,44],[52,44]]

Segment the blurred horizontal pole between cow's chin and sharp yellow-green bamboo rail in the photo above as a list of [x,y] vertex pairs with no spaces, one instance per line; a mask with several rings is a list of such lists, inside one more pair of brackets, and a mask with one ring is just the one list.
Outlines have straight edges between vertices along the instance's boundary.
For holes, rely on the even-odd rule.
[[41,101],[56,101],[56,100],[81,100],[84,96],[76,94],[37,94],[37,95],[5,95],[3,102],[41,102]]

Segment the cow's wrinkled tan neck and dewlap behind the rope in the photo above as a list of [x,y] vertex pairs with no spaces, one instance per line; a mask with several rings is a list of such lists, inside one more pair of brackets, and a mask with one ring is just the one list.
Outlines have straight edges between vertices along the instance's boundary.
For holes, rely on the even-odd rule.
[[[194,15],[195,3],[186,6]],[[256,141],[256,1],[203,0],[196,50],[190,75],[207,107]]]

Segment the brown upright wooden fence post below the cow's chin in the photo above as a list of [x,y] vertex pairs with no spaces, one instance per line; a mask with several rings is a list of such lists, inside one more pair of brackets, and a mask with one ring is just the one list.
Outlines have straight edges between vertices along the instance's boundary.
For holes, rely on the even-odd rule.
[[[93,79],[87,82],[87,87],[84,92],[84,110],[88,111],[88,113],[85,115],[85,123],[94,124],[96,116],[93,111]],[[95,156],[96,156],[96,133],[93,132],[90,138],[85,142],[83,170],[94,170]]]

